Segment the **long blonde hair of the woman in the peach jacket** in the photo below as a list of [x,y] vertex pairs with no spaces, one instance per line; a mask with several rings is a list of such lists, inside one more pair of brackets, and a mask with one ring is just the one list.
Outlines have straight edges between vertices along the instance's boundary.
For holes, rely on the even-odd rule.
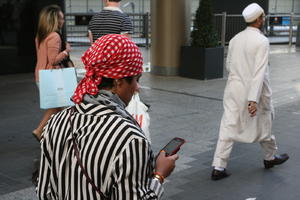
[[61,8],[58,5],[49,5],[42,9],[37,28],[37,40],[40,44],[50,33],[59,31],[58,16]]

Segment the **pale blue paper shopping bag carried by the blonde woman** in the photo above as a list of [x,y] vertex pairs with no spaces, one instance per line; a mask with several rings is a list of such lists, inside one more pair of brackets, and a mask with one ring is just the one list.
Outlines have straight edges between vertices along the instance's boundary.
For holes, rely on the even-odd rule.
[[77,86],[75,69],[40,70],[40,107],[42,109],[74,105],[70,100]]

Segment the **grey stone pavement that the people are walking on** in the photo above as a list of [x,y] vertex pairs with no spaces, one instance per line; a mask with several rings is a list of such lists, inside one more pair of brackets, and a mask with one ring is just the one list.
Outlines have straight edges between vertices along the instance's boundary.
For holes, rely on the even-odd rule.
[[[79,65],[84,48],[74,48]],[[145,62],[149,51],[143,49]],[[223,111],[226,77],[194,80],[144,73],[141,98],[150,104],[151,138],[157,152],[172,137],[187,143],[179,152],[174,173],[167,178],[168,200],[299,200],[300,199],[300,52],[271,46],[271,85],[276,118],[273,134],[279,152],[290,160],[263,169],[259,144],[236,144],[229,162],[231,177],[211,181],[211,161]],[[36,199],[30,178],[39,144],[31,136],[42,117],[33,74],[0,76],[0,200]]]

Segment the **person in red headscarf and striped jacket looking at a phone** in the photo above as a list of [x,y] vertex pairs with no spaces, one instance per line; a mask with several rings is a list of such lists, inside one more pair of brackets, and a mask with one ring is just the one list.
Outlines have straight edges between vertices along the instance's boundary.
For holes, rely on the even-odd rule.
[[75,106],[54,115],[41,140],[39,199],[161,199],[178,155],[153,156],[125,110],[139,88],[142,56],[126,36],[105,35],[84,53]]

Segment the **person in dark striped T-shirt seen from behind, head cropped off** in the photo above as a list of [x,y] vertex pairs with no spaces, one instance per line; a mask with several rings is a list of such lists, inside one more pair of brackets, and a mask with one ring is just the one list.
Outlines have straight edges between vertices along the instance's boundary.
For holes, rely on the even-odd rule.
[[130,36],[133,25],[129,16],[120,9],[121,0],[104,0],[105,7],[95,14],[88,25],[90,43],[107,34]]

